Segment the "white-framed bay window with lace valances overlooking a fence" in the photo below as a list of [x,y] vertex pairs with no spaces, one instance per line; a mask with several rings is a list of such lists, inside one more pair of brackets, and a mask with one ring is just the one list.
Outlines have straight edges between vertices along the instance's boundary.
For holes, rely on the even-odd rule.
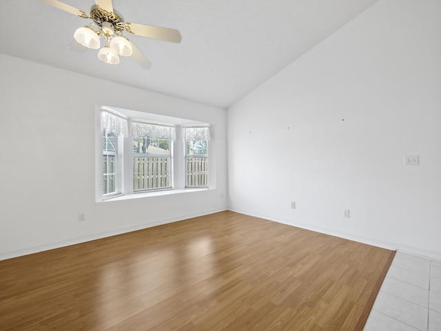
[[104,106],[96,111],[96,201],[209,187],[207,123]]

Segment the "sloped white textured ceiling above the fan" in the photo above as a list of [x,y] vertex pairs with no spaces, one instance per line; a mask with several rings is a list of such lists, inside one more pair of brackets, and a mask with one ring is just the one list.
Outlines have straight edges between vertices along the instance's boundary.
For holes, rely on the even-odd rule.
[[[378,0],[114,0],[126,22],[175,28],[181,43],[127,35],[150,59],[117,66],[73,52],[90,23],[39,0],[0,0],[0,52],[227,108]],[[94,0],[65,0],[85,12]]]

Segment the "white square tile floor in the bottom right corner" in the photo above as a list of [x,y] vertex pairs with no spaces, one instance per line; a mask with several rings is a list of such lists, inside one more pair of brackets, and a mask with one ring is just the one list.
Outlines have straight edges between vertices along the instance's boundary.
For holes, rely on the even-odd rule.
[[364,331],[441,331],[441,262],[397,252]]

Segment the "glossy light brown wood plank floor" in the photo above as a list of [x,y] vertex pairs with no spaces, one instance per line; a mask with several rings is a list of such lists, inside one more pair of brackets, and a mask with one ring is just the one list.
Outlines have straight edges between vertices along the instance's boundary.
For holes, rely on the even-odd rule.
[[0,330],[362,330],[394,254],[219,212],[0,261]]

